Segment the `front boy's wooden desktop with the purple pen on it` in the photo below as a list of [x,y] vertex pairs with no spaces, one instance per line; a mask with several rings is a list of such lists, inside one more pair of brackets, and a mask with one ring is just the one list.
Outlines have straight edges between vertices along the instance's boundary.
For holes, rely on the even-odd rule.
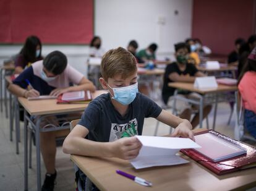
[[[197,130],[198,131],[198,130]],[[256,186],[256,168],[217,176],[193,159],[181,153],[190,161],[177,166],[161,166],[136,170],[132,165],[118,158],[95,158],[71,155],[100,190],[245,190]],[[153,183],[144,187],[126,177],[116,174],[116,170],[139,176]]]

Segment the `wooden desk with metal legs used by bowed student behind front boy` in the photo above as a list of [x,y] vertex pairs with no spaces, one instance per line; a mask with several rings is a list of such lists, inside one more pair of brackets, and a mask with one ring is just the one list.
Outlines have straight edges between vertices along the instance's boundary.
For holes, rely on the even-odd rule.
[[[98,90],[93,93],[93,98],[103,93],[105,90]],[[37,174],[37,190],[41,190],[41,158],[40,158],[40,128],[41,121],[47,116],[56,116],[57,114],[70,114],[72,112],[81,112],[88,104],[57,104],[57,100],[27,100],[26,98],[18,98],[20,104],[24,108],[24,187],[28,189],[28,142],[27,142],[27,124],[30,122],[35,130],[36,142],[36,174]],[[30,115],[28,115],[30,114]],[[32,121],[30,116],[38,116],[38,119]],[[69,126],[49,127],[47,131],[69,129]]]

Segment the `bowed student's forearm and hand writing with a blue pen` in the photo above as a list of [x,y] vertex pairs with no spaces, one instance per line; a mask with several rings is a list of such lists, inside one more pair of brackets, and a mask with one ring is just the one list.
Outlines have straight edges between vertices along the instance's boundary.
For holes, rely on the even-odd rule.
[[15,96],[18,97],[24,97],[24,98],[28,98],[28,97],[37,97],[40,96],[39,91],[32,89],[32,90],[25,90],[21,87],[19,87],[19,85],[15,85],[14,83],[11,83],[8,87],[8,90],[13,93]]

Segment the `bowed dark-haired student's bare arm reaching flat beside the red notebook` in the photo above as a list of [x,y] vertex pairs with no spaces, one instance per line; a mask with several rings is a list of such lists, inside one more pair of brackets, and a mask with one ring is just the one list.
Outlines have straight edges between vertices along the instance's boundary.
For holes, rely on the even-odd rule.
[[69,91],[80,91],[80,90],[90,90],[94,92],[96,88],[90,80],[86,79],[85,77],[82,77],[78,85],[67,87],[67,88],[56,88],[53,91],[51,91],[50,95],[59,96],[62,93],[66,93]]

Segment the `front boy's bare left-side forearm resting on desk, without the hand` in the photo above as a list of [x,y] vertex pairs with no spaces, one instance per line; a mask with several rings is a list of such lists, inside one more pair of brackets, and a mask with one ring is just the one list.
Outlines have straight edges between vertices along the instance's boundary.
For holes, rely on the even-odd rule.
[[62,149],[66,154],[114,157],[112,145],[111,142],[94,142],[86,138],[72,137],[64,141]]

